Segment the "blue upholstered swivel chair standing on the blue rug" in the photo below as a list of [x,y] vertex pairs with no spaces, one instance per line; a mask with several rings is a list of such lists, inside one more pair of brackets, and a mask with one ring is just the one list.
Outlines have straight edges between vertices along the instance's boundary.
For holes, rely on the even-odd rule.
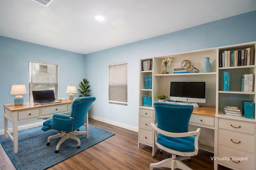
[[[69,138],[77,141],[77,149],[80,148],[81,142],[76,135],[86,135],[88,138],[88,110],[90,109],[94,100],[96,100],[96,98],[91,96],[77,98],[71,104],[70,115],[54,113],[52,119],[49,119],[43,123],[43,131],[54,129],[59,132],[57,135],[48,137],[46,144],[50,145],[51,139],[60,137],[60,141],[56,146],[55,153],[58,153],[60,145]],[[79,127],[82,125],[86,126],[86,131],[79,131]]]

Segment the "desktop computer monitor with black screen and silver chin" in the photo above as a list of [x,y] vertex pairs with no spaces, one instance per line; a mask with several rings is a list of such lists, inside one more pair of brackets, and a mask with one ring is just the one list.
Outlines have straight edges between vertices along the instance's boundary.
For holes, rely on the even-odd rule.
[[171,82],[170,100],[205,103],[205,82]]

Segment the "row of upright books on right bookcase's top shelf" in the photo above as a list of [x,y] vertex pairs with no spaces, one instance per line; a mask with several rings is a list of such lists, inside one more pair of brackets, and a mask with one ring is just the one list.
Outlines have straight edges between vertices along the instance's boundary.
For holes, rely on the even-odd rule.
[[254,65],[254,47],[219,53],[219,67]]

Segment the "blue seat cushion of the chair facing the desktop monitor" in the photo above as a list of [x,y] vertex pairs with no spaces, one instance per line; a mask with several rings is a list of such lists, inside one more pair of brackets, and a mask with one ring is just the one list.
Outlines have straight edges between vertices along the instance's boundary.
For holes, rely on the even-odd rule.
[[158,133],[157,143],[160,145],[180,152],[194,152],[195,136],[188,137],[168,137]]

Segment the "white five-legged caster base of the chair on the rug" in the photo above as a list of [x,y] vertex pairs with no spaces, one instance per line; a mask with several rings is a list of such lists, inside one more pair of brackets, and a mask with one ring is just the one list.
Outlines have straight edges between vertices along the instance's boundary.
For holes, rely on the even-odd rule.
[[73,132],[60,132],[56,135],[52,135],[49,136],[47,139],[47,143],[46,145],[50,145],[50,140],[51,139],[56,139],[56,138],[60,138],[60,141],[58,142],[57,146],[56,146],[56,150],[55,153],[58,153],[59,149],[60,149],[60,145],[68,140],[69,138],[74,139],[77,141],[77,149],[80,148],[81,146],[81,141],[80,139],[76,136],[76,135],[86,135],[86,138],[88,138],[88,131],[73,131]]

